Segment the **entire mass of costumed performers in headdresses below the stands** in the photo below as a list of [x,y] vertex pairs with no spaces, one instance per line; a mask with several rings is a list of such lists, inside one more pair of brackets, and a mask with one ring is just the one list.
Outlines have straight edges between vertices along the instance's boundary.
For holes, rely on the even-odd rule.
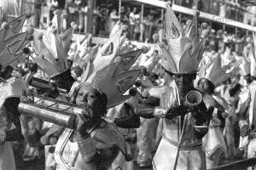
[[[90,47],[90,35],[71,43],[59,13],[44,34],[19,33],[24,20],[0,31],[1,170],[15,169],[9,142],[24,139],[45,145],[46,169],[134,169],[136,159],[156,170],[205,170],[236,154],[236,123],[247,158],[254,156],[253,42],[243,57],[204,52],[207,24],[199,27],[195,14],[181,26],[170,3],[166,42],[154,48],[137,48],[121,24]],[[34,63],[27,74],[19,67],[26,58]],[[131,128],[137,158],[126,141]]]

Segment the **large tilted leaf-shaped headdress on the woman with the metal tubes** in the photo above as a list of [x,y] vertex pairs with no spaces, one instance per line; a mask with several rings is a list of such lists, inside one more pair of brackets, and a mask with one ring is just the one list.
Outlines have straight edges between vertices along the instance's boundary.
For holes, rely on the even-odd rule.
[[119,105],[131,97],[130,94],[123,94],[131,88],[140,73],[139,70],[131,70],[131,66],[142,54],[143,49],[120,54],[121,34],[122,30],[115,32],[102,45],[96,59],[93,63],[88,63],[81,78],[81,85],[88,84],[107,95],[108,108]]

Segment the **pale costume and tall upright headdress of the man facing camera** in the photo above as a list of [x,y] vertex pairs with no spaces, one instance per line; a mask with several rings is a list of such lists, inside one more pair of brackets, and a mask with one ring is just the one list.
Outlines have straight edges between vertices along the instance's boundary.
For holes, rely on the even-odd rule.
[[[166,71],[178,74],[195,73],[205,48],[206,33],[198,35],[197,18],[187,22],[185,29],[180,25],[172,8],[167,4],[165,31],[168,48],[162,48],[161,65]],[[176,87],[153,87],[148,92],[160,99],[160,107],[154,109],[154,115],[165,115],[172,106],[180,103]],[[154,170],[203,170],[205,155],[202,150],[201,138],[207,132],[207,125],[197,124],[191,113],[168,120],[164,118],[162,139],[153,159]],[[207,124],[207,122],[205,122]]]

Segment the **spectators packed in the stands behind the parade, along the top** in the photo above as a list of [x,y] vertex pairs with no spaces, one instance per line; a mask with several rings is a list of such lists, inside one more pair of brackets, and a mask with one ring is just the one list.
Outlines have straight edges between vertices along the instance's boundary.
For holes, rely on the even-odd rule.
[[[201,11],[216,14],[221,18],[236,20],[234,17],[237,15],[241,22],[251,24],[251,21],[253,21],[252,17],[245,14],[245,8],[243,10],[237,9],[241,9],[241,6],[235,1],[197,1],[197,7],[195,7],[195,1],[193,0],[183,0],[175,3],[181,4],[187,8],[198,8]],[[129,26],[128,37],[131,40],[154,42],[154,38],[152,38],[152,36],[155,33],[164,35],[162,33],[163,18],[161,16],[160,8],[144,8],[142,16],[141,6],[132,6],[129,5],[129,3],[124,3],[119,11],[119,7],[117,5],[118,3],[96,3],[92,19],[93,35],[97,37],[108,37],[113,26],[118,21]],[[49,20],[52,19],[54,15],[53,11],[55,9],[61,9],[63,10],[63,14],[67,16],[67,26],[73,26],[75,33],[84,34],[84,32],[86,32],[86,13],[88,11],[86,1],[70,0],[65,4],[61,1],[49,0],[35,3],[31,20],[33,26],[42,29],[47,27],[47,20],[42,19],[42,16],[40,16],[44,8],[49,8]],[[247,13],[253,14],[253,12],[248,10]],[[242,16],[247,16],[247,19],[250,20],[242,19]],[[188,18],[189,16],[181,15],[182,21],[187,20]],[[42,24],[42,22],[45,22],[46,24]],[[183,24],[185,23],[183,22]],[[235,31],[230,32],[230,30],[225,31],[224,29],[212,27],[209,43],[211,46],[214,46],[215,49],[228,43],[231,51],[241,55],[241,47],[246,43],[245,32],[235,34]]]

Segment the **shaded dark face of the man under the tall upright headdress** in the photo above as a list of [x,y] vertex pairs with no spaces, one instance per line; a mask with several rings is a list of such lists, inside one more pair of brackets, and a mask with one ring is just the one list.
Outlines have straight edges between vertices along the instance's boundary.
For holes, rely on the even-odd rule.
[[172,77],[174,78],[179,91],[188,92],[193,88],[195,74],[174,74]]

